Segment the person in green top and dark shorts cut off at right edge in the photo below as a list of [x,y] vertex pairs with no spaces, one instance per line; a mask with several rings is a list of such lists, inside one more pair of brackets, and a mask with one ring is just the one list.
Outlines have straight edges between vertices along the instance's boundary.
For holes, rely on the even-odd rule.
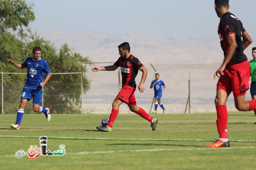
[[[252,100],[256,100],[256,47],[252,48],[252,60],[249,62],[251,67],[251,86],[250,93],[252,96]],[[256,116],[256,110],[254,110]],[[256,125],[256,122],[254,123]]]

